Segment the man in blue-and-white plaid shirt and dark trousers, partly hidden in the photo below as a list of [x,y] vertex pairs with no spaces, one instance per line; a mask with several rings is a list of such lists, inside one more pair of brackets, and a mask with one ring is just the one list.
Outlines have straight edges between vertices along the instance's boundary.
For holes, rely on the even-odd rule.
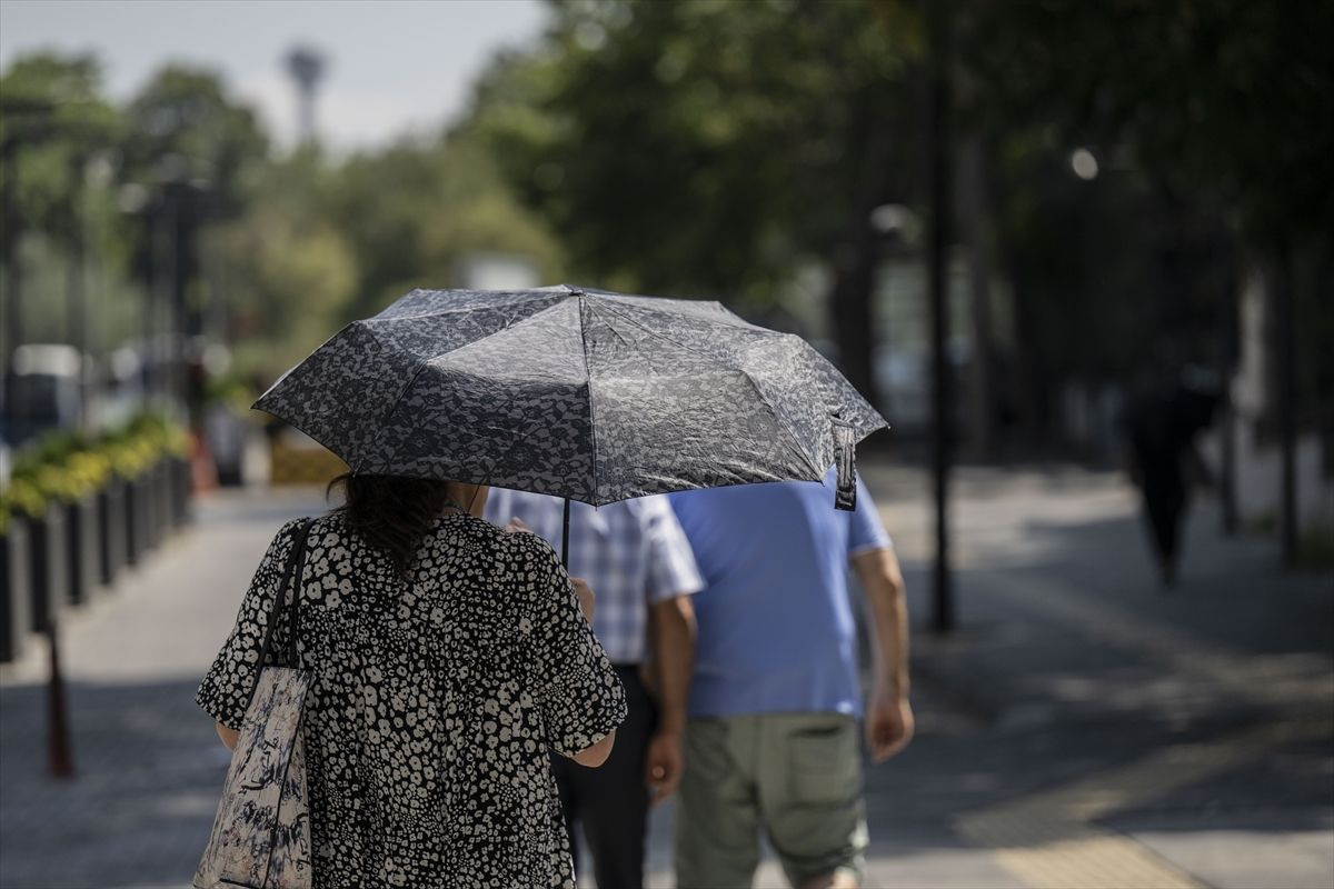
[[[487,517],[518,520],[560,545],[564,501],[495,488]],[[690,686],[695,612],[703,586],[690,544],[666,497],[594,509],[572,502],[570,569],[598,594],[592,629],[626,688],[626,721],[600,769],[555,762],[560,805],[575,848],[582,825],[600,889],[643,885],[648,808],[676,789]],[[644,681],[652,665],[652,688]],[[576,862],[578,865],[578,862]]]

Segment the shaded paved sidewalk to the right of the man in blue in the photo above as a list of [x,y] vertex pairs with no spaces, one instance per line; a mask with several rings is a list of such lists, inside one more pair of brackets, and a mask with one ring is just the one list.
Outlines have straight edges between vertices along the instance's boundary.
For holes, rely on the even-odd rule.
[[876,804],[910,800],[900,821],[1022,885],[1334,885],[1334,577],[1282,574],[1206,504],[1165,593],[1114,476],[963,470],[942,640],[920,632],[924,481],[867,474],[910,569],[916,681],[983,721],[882,766]]

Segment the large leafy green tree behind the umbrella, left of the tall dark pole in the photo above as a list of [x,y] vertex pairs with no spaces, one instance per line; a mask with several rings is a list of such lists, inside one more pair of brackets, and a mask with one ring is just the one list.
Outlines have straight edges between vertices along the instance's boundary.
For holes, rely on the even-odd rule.
[[834,271],[840,360],[874,396],[871,211],[911,192],[898,4],[559,3],[502,57],[470,124],[580,275],[764,307],[796,265]]

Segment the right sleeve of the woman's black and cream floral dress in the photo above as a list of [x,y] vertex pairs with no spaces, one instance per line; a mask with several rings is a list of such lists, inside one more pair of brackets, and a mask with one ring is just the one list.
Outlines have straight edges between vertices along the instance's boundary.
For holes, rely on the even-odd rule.
[[536,580],[531,618],[520,632],[531,642],[547,742],[562,756],[575,756],[626,718],[626,692],[556,553],[536,534],[515,534],[515,542],[528,562],[524,573]]

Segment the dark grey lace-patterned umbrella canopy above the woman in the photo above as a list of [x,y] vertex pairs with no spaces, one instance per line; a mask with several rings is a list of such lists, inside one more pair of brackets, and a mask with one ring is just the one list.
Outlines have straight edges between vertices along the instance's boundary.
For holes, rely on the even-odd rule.
[[354,472],[592,505],[818,481],[835,457],[844,489],[852,446],[886,425],[800,337],[718,303],[564,285],[412,291],[346,327],[255,407]]

